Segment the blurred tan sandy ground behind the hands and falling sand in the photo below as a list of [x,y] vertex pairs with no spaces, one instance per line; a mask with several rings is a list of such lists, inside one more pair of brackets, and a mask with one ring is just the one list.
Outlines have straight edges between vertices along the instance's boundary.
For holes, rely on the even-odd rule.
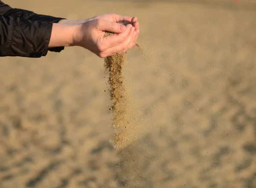
[[70,19],[136,15],[147,55],[128,52],[141,119],[119,151],[103,59],[78,47],[1,58],[0,188],[256,188],[253,0],[6,3]]

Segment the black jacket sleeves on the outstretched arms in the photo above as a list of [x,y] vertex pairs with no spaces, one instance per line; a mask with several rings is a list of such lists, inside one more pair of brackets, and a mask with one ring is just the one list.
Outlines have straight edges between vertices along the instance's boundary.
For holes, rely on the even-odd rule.
[[61,52],[64,46],[48,46],[53,23],[63,19],[13,9],[0,1],[0,56],[40,58],[48,50]]

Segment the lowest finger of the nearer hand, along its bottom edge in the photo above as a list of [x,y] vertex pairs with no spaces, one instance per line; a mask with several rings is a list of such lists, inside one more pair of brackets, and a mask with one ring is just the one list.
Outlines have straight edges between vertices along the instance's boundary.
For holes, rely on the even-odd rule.
[[120,52],[127,51],[128,46],[133,42],[134,33],[135,33],[135,28],[132,27],[128,37],[122,43],[120,43],[119,45],[113,46],[110,49],[107,49],[104,52],[104,54],[111,55],[111,54],[118,54]]

